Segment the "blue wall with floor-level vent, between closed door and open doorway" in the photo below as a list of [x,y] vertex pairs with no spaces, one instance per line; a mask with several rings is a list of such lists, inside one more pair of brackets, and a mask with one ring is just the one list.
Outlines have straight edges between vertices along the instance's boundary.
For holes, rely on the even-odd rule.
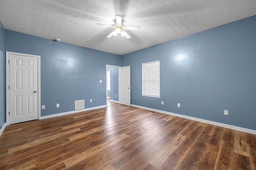
[[6,51],[41,56],[41,116],[73,111],[75,100],[85,100],[85,108],[106,105],[106,64],[121,65],[119,55],[10,30],[4,34]]

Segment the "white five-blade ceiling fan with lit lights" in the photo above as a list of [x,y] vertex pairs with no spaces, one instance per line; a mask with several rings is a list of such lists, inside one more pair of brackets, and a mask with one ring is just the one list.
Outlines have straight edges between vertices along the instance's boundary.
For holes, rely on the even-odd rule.
[[110,38],[113,35],[115,35],[115,36],[118,35],[118,38],[124,36],[127,39],[129,39],[131,36],[128,33],[126,33],[124,31],[124,29],[140,29],[140,26],[124,26],[124,25],[122,25],[122,17],[120,17],[120,16],[116,16],[116,24],[115,25],[105,25],[105,24],[101,24],[101,23],[97,23],[97,25],[112,27],[115,29],[114,31],[112,31],[112,33],[110,33],[110,35],[107,36],[107,38]]

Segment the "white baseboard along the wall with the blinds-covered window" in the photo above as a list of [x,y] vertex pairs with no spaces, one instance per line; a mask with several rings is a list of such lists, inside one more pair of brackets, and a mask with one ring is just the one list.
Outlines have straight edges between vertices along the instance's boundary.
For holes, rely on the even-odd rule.
[[246,133],[252,133],[252,134],[256,135],[256,131],[252,130],[252,129],[246,129],[246,128],[243,128],[243,127],[227,125],[227,124],[224,124],[224,123],[218,123],[218,122],[215,122],[215,121],[199,119],[199,118],[196,118],[196,117],[190,117],[190,116],[186,116],[186,115],[180,115],[180,114],[172,113],[172,112],[168,112],[168,111],[162,111],[162,110],[152,109],[152,108],[143,107],[143,106],[137,106],[137,105],[134,105],[134,104],[131,104],[131,106],[138,107],[138,108],[141,108],[141,109],[150,110],[150,111],[156,111],[156,112],[159,112],[159,113],[164,113],[164,114],[167,114],[167,115],[173,115],[173,116],[177,116],[177,117],[182,117],[182,118],[190,119],[190,120],[194,120],[194,121],[200,121],[200,122],[203,122],[203,123],[208,123],[208,124],[216,125],[216,126],[220,126],[220,127],[226,127],[228,129],[234,129],[234,130],[237,130],[237,131],[243,131],[243,132],[246,132]]

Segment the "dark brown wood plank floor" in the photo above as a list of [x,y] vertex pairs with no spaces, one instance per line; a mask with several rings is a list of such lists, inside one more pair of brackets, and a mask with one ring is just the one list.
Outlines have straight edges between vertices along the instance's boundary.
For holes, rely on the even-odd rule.
[[256,135],[112,103],[7,126],[0,169],[256,169]]

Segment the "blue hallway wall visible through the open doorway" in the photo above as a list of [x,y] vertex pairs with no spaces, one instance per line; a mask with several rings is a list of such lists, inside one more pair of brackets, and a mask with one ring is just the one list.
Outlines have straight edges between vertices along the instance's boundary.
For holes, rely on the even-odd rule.
[[110,100],[119,100],[118,67],[110,67]]

